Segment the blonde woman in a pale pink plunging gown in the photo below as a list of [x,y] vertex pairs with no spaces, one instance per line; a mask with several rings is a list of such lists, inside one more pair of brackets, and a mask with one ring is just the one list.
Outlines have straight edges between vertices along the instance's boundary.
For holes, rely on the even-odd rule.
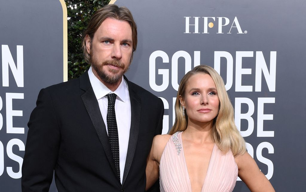
[[239,176],[251,191],[274,191],[246,152],[221,76],[197,66],[181,80],[170,135],[153,139],[147,159],[148,189],[160,176],[161,191],[233,191]]

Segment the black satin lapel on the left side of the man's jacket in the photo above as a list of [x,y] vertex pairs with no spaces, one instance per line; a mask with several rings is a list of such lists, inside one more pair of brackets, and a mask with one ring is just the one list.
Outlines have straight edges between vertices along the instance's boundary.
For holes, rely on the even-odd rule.
[[[85,77],[83,77],[85,76]],[[81,95],[87,113],[91,119],[92,124],[95,127],[99,140],[104,148],[104,152],[108,161],[110,162],[111,167],[113,168],[114,172],[117,173],[115,168],[115,161],[113,158],[113,154],[110,149],[110,142],[107,136],[106,127],[101,115],[101,111],[99,108],[99,103],[95,97],[95,93],[90,85],[88,74],[86,79],[86,74],[80,78],[80,88],[83,89],[85,92]],[[88,85],[88,82],[89,85]],[[119,178],[118,178],[119,179]]]

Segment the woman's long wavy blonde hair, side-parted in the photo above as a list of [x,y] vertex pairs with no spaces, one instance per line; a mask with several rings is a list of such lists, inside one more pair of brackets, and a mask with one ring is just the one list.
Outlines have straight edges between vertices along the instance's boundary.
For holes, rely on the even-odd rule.
[[197,73],[209,74],[215,82],[218,98],[220,100],[219,113],[214,119],[213,127],[211,130],[211,137],[217,144],[220,150],[227,152],[232,150],[233,155],[244,154],[246,152],[245,141],[238,131],[234,121],[234,109],[230,98],[226,92],[222,77],[215,69],[206,65],[200,65],[193,68],[182,78],[180,86],[177,91],[177,97],[175,101],[175,122],[170,130],[170,134],[174,134],[177,131],[185,131],[188,124],[188,116],[185,113],[183,116],[183,108],[181,106],[179,96],[185,96],[186,85],[188,79]]

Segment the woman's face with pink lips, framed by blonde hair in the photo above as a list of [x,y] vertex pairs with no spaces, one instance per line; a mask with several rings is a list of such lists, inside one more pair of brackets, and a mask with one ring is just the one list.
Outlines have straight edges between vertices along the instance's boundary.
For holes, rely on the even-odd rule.
[[217,88],[209,74],[192,75],[186,84],[185,96],[180,96],[180,101],[186,109],[188,122],[210,122],[219,112]]

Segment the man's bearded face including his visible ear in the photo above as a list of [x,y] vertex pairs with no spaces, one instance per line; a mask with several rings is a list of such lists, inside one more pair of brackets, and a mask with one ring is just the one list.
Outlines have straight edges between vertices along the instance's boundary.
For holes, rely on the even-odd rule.
[[132,29],[128,22],[106,18],[92,39],[86,37],[93,73],[101,82],[117,84],[129,69]]

